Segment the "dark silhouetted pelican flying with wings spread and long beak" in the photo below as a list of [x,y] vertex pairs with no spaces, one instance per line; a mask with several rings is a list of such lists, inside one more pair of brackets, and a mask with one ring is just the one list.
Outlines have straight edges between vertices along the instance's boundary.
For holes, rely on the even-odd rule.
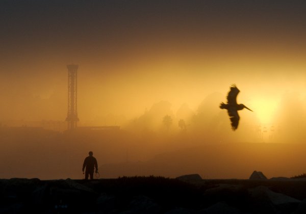
[[[243,110],[244,108],[247,110],[250,110],[245,106],[244,104],[238,104],[237,103],[237,95],[239,94],[239,89],[235,84],[233,84],[230,88],[230,92],[227,94],[227,104],[224,102],[220,103],[220,109],[226,109],[228,116],[230,116],[231,119],[231,125],[233,131],[235,131],[238,128],[238,123],[239,123],[239,115],[238,111]],[[252,110],[250,110],[252,112]]]

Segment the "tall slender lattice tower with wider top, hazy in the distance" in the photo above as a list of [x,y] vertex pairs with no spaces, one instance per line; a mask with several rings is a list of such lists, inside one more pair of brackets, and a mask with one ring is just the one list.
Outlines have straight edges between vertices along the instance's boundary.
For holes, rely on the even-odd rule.
[[78,108],[77,108],[77,70],[79,65],[67,65],[68,68],[68,114],[66,121],[68,129],[77,127]]

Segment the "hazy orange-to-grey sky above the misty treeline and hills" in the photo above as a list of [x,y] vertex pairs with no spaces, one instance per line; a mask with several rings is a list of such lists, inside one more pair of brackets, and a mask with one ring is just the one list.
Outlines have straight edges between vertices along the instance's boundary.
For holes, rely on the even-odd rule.
[[[78,64],[82,121],[197,111],[232,83],[262,123],[305,107],[305,1],[0,1],[0,120],[64,120]],[[218,102],[211,103],[218,108]],[[279,110],[279,111],[278,111]]]

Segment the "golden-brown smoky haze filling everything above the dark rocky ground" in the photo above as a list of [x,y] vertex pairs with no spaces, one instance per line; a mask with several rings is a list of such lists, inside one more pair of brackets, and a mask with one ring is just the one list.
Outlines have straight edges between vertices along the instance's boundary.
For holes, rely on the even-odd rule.
[[[106,177],[303,173],[305,8],[2,1],[0,176],[80,178],[89,150]],[[71,63],[79,65],[78,125],[116,125],[118,133],[63,132]],[[234,83],[238,103],[253,110],[239,112],[236,131],[219,109]]]

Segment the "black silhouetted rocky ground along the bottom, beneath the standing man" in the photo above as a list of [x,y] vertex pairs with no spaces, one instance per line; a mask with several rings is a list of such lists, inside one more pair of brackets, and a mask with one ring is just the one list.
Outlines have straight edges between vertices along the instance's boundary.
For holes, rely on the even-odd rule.
[[0,179],[0,213],[306,213],[306,181]]

